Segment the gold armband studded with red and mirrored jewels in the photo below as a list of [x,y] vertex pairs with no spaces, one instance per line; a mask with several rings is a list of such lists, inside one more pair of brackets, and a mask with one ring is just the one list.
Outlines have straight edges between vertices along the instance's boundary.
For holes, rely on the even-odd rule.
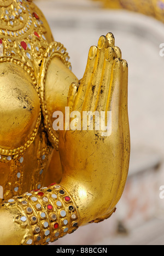
[[79,226],[77,206],[61,185],[33,190],[3,203],[3,207],[19,209],[13,220],[26,230],[21,245],[46,245]]

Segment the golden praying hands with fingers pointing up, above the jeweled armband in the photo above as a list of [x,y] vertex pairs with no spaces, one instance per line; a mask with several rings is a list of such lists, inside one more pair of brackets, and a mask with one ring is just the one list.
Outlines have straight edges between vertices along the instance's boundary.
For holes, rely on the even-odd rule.
[[71,188],[69,192],[77,203],[81,223],[112,212],[127,178],[130,154],[127,63],[117,58],[120,50],[113,43],[114,38],[108,34],[99,39],[97,48],[91,47],[84,77],[79,88],[77,85],[78,90],[73,84],[68,98],[68,107],[78,110],[81,117],[84,111],[111,111],[110,136],[104,137],[102,130],[94,129],[60,132],[64,171],[61,183]]

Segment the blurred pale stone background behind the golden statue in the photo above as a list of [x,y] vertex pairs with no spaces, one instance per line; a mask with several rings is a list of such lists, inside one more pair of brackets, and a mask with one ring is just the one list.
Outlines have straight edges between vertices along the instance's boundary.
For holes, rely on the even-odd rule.
[[108,32],[129,65],[130,172],[113,216],[51,245],[164,245],[164,25],[141,14],[104,10],[90,0],[36,0],[80,79],[91,45]]

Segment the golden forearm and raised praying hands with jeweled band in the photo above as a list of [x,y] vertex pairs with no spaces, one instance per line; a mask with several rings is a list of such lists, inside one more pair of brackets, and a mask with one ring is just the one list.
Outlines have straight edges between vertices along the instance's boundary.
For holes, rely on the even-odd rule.
[[1,245],[45,245],[115,211],[128,173],[130,132],[127,63],[112,34],[91,47],[84,77],[71,85],[67,106],[112,111],[112,133],[60,131],[61,183],[3,203]]

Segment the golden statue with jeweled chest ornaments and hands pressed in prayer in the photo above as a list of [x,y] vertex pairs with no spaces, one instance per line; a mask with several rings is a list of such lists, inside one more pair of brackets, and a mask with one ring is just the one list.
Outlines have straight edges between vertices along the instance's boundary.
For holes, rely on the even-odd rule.
[[[0,0],[0,15],[0,244],[46,245],[109,218],[120,200],[130,159],[127,62],[108,33],[79,80],[32,0]],[[93,113],[93,129],[66,120],[68,109]],[[106,136],[96,129],[102,112],[106,123],[111,114]],[[54,128],[57,113],[63,129]]]

